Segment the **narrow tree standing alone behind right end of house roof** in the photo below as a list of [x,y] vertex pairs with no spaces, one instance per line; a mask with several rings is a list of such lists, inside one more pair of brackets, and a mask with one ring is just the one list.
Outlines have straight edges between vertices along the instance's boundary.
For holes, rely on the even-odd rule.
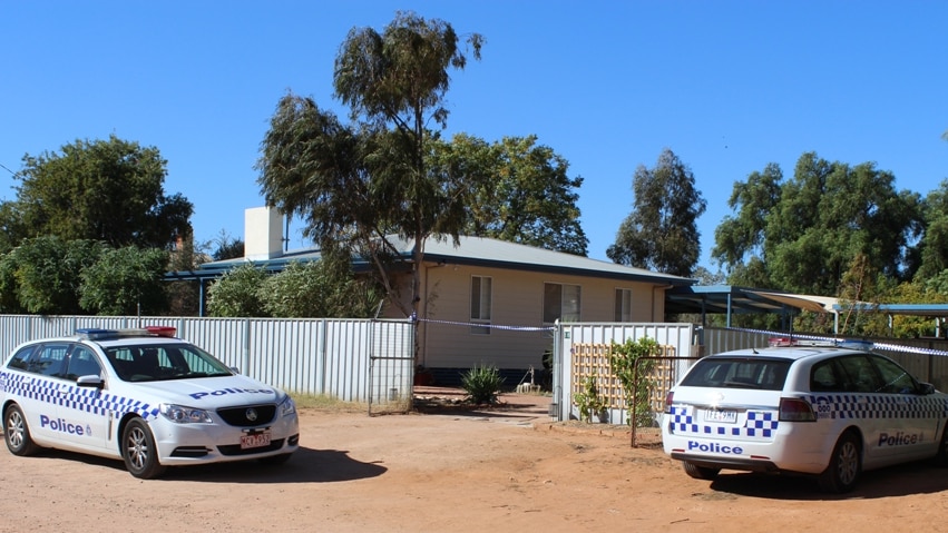
[[635,170],[632,189],[633,211],[606,255],[620,265],[691,276],[701,255],[697,218],[707,207],[691,169],[666,148],[654,169]]

